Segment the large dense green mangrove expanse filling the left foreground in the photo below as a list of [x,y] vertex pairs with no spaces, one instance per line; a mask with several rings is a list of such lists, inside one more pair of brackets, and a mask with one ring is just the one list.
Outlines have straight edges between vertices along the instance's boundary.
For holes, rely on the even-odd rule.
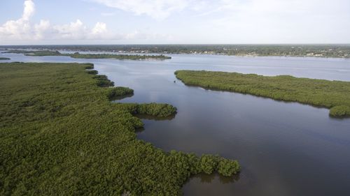
[[132,89],[100,87],[112,82],[85,70],[92,68],[0,63],[0,195],[181,195],[193,174],[239,172],[235,160],[137,140],[143,123],[133,114],[176,108],[111,103]]

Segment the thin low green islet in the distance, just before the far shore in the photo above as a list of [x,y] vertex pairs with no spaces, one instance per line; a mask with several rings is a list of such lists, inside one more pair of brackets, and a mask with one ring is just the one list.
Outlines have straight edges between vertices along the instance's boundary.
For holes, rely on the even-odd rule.
[[70,56],[74,59],[129,59],[129,60],[146,60],[146,59],[172,59],[170,56],[160,55],[139,55],[139,54],[80,54],[76,52],[74,54],[62,54],[58,51],[50,50],[10,50],[5,53],[18,53],[25,54],[26,56]]

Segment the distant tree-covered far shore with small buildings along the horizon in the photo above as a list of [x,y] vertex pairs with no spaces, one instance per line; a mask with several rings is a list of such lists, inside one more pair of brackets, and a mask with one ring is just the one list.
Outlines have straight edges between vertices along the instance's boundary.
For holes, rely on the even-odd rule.
[[28,45],[3,49],[100,52],[225,54],[249,56],[325,56],[350,58],[350,45]]

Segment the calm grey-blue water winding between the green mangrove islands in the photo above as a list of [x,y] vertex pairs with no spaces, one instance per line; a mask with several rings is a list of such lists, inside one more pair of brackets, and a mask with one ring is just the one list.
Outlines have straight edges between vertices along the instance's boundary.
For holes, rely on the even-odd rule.
[[[0,54],[1,56],[1,54]],[[350,81],[350,59],[173,55],[167,61],[71,59],[6,54],[12,61],[95,63],[118,86],[134,89],[120,102],[169,103],[168,119],[144,119],[141,140],[172,149],[239,160],[233,178],[198,175],[184,195],[350,195],[350,119],[299,103],[185,86],[175,70],[224,70]],[[176,81],[176,82],[174,82]]]

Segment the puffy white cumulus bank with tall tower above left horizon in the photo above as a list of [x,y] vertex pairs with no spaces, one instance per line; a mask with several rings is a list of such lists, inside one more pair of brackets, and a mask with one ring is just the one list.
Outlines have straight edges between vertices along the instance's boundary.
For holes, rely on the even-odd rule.
[[0,40],[90,40],[113,39],[120,36],[108,31],[103,22],[97,22],[92,28],[86,27],[81,20],[69,24],[52,25],[48,20],[40,20],[32,24],[31,17],[35,13],[32,0],[26,0],[22,17],[9,20],[0,26]]

